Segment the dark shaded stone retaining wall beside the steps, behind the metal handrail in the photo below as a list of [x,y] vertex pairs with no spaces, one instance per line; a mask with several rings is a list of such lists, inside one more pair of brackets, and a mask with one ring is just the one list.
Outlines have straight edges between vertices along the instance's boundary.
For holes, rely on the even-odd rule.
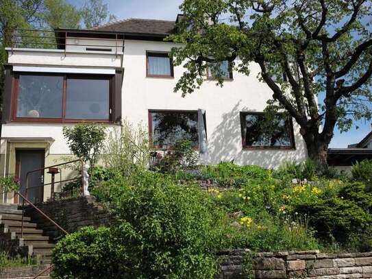
[[[75,232],[84,226],[108,226],[110,223],[108,211],[97,204],[94,197],[77,197],[36,206],[67,232]],[[63,232],[32,206],[28,206],[25,213],[32,218],[33,222],[38,223],[38,229],[44,230],[51,239],[62,236]]]

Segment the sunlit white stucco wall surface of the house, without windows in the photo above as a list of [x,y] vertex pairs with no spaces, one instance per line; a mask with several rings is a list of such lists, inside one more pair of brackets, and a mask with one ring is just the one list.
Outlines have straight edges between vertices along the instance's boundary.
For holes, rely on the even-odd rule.
[[[126,40],[123,57],[125,75],[122,88],[122,114],[132,123],[148,123],[148,110],[206,110],[208,152],[210,163],[231,161],[241,165],[277,167],[287,160],[306,159],[306,146],[295,124],[295,150],[247,150],[242,148],[239,112],[262,112],[271,90],[258,81],[259,68],[251,64],[249,77],[234,72],[234,80],[223,88],[214,81],[206,81],[201,90],[184,98],[173,93],[182,75],[182,67],[175,67],[174,78],[146,77],[146,51],[169,51],[172,43]],[[16,65],[88,66],[114,69],[121,58],[112,53],[82,53],[71,49],[66,56],[61,51],[14,51],[9,63]],[[295,123],[295,121],[294,121]],[[51,137],[50,154],[69,154],[62,135],[62,124],[7,123],[2,137]]]

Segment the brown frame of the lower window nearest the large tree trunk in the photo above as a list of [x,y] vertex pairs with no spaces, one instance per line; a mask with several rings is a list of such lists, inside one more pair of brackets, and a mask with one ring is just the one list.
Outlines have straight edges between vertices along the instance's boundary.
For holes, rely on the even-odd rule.
[[[288,117],[286,120],[287,125],[289,125],[289,136],[290,136],[290,146],[252,146],[247,145],[245,143],[245,129],[244,125],[245,123],[245,116],[247,114],[253,114],[253,115],[263,115],[264,112],[240,112],[240,130],[241,130],[241,136],[242,136],[242,147],[243,149],[284,149],[284,150],[295,150],[296,149],[296,143],[295,143],[295,133],[293,130],[293,120],[292,117]],[[277,114],[284,114],[282,112],[278,112]]]

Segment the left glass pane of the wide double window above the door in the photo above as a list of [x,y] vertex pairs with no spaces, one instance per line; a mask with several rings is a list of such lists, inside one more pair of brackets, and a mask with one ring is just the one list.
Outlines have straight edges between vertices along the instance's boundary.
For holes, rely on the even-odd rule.
[[20,75],[16,117],[62,117],[63,77]]

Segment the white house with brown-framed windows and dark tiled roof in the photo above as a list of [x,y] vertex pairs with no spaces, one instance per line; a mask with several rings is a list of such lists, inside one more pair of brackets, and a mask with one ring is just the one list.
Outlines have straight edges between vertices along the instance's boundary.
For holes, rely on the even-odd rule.
[[[89,30],[55,29],[57,49],[8,48],[1,134],[1,170],[25,173],[61,162],[71,154],[62,128],[81,121],[119,127],[121,119],[149,126],[153,147],[169,147],[180,136],[206,143],[207,164],[232,161],[275,168],[306,159],[306,145],[292,119],[260,128],[272,92],[260,82],[257,64],[249,77],[228,72],[223,88],[209,71],[200,90],[184,98],[173,93],[182,66],[168,56],[174,21],[128,19]],[[205,134],[204,134],[205,133]],[[203,145],[201,145],[203,146]],[[203,148],[204,149],[204,148]],[[68,177],[68,171],[58,174]],[[32,182],[46,183],[49,173]],[[50,186],[37,199],[47,199]],[[9,197],[10,201],[12,197]]]

